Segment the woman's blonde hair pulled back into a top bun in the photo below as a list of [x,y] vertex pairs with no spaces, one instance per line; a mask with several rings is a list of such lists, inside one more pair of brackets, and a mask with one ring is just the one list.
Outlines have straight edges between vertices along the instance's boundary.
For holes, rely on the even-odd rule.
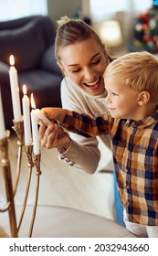
[[68,16],[62,16],[58,20],[58,29],[55,39],[55,57],[59,62],[59,48],[67,47],[69,45],[75,44],[76,42],[81,42],[87,40],[90,37],[94,37],[97,43],[105,52],[105,58],[107,59],[107,64],[111,62],[111,57],[103,48],[100,37],[97,35],[95,30],[90,27],[86,22],[81,19],[68,18]]

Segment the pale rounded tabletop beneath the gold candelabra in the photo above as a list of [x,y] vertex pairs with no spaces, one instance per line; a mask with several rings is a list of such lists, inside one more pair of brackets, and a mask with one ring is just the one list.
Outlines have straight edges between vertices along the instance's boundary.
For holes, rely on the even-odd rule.
[[[18,215],[20,207],[16,206]],[[32,206],[26,207],[19,237],[27,237]],[[18,216],[17,216],[18,218]],[[0,214],[0,226],[9,234],[7,215]],[[38,206],[33,229],[34,238],[134,238],[135,236],[111,219],[72,208]]]

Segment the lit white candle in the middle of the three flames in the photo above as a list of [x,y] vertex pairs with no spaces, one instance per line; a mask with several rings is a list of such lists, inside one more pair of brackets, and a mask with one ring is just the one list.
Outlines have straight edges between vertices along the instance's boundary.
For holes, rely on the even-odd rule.
[[24,134],[25,134],[25,144],[31,144],[31,123],[30,123],[30,109],[29,109],[29,99],[26,95],[26,85],[23,85],[23,117],[24,117]]

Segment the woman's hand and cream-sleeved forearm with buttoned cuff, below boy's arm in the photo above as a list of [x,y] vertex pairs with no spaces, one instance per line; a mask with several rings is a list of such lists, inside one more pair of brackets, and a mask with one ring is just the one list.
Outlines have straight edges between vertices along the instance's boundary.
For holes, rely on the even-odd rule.
[[40,121],[39,124],[39,140],[42,146],[47,149],[57,148],[59,159],[65,160],[68,165],[75,165],[91,174],[96,171],[100,160],[96,138],[86,139],[75,134],[78,137],[77,143],[56,123],[47,126]]

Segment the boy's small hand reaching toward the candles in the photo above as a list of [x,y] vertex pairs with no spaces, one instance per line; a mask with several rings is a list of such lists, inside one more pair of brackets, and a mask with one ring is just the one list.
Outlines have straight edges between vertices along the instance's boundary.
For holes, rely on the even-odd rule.
[[61,108],[42,108],[41,112],[43,112],[50,121],[57,120],[59,123],[63,122],[66,115],[66,111]]

